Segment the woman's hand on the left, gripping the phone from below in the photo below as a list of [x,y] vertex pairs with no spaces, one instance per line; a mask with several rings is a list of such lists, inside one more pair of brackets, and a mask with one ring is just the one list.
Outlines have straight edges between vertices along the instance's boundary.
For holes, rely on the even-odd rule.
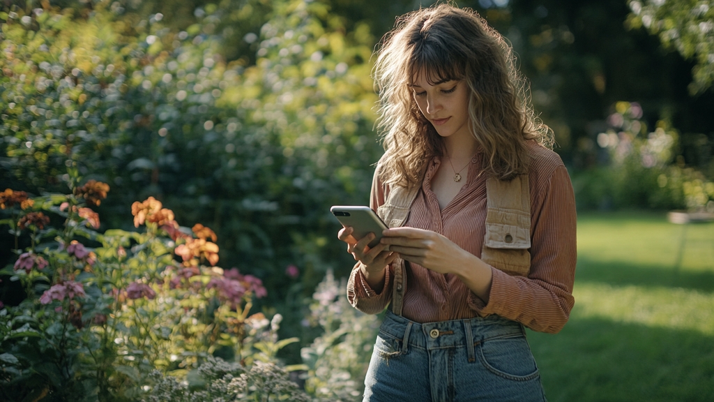
[[381,290],[379,285],[384,283],[384,269],[397,259],[398,254],[387,250],[388,246],[381,243],[370,248],[369,243],[374,239],[374,233],[357,240],[352,232],[352,227],[343,227],[337,238],[347,243],[347,253],[361,263],[360,269],[372,289]]

